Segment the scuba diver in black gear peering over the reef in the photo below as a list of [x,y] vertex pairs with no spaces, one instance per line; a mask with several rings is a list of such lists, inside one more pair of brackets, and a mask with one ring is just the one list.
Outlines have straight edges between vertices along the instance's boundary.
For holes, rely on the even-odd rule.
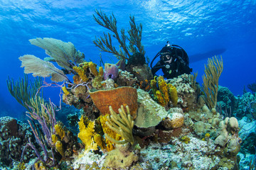
[[[157,62],[154,67],[152,67],[154,60],[156,60],[156,57],[159,56],[159,62]],[[156,54],[150,63],[152,74],[155,76],[156,72],[159,69],[162,69],[166,79],[172,79],[185,73],[191,74],[192,69],[189,68],[188,65],[189,60],[185,50],[183,50],[183,48],[178,45],[170,45],[169,41],[167,41],[165,47],[163,47],[161,51]]]

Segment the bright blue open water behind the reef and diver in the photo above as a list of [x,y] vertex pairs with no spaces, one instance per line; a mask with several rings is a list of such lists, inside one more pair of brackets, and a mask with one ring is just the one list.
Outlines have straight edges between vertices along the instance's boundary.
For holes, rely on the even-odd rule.
[[[31,45],[31,38],[56,38],[73,42],[85,53],[86,60],[99,63],[100,51],[93,45],[95,36],[105,28],[92,18],[95,8],[117,18],[119,29],[129,28],[129,15],[142,23],[142,43],[149,59],[153,59],[169,40],[183,47],[191,60],[190,67],[198,72],[202,83],[204,64],[214,54],[223,56],[224,70],[220,85],[233,94],[242,94],[243,87],[256,81],[256,1],[38,1],[0,0],[1,115],[17,116],[23,110],[9,94],[6,79],[23,77],[18,57],[26,54],[47,57],[44,50]],[[220,52],[224,51],[224,52]],[[104,62],[116,62],[102,52]],[[195,57],[195,58],[192,58]],[[49,90],[46,97],[55,98]],[[53,94],[52,94],[53,93]],[[58,92],[57,93],[58,96]]]

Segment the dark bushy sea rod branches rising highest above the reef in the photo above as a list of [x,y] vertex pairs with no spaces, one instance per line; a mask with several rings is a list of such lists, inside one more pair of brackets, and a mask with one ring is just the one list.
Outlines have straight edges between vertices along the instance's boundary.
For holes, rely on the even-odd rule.
[[[103,11],[95,10],[96,16],[93,15],[94,20],[100,25],[108,30],[112,31],[114,35],[110,33],[104,33],[104,38],[100,37],[94,40],[93,43],[100,48],[103,52],[110,52],[115,55],[118,59],[127,60],[132,55],[130,52],[140,52],[142,55],[145,54],[144,46],[142,45],[142,24],[136,26],[134,21],[134,16],[130,16],[130,30],[128,30],[129,36],[125,35],[124,29],[121,30],[121,36],[117,31],[117,19],[114,15],[108,17]],[[119,51],[112,45],[112,38],[117,39],[120,45]],[[127,45],[127,41],[129,45]]]

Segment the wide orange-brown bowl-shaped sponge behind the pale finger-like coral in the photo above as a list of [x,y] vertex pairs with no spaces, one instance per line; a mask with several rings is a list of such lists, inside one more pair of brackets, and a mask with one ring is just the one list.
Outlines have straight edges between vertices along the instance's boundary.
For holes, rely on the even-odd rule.
[[129,106],[130,114],[134,119],[137,117],[138,95],[137,90],[133,87],[123,86],[116,89],[94,91],[90,92],[90,97],[102,115],[110,114],[110,106],[115,113],[119,113],[118,109],[123,105],[124,107]]

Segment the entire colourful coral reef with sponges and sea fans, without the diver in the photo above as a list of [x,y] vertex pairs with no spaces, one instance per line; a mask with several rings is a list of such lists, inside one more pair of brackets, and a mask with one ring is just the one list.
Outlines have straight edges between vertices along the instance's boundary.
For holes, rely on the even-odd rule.
[[[218,57],[208,60],[204,96],[196,83],[197,74],[153,79],[141,44],[142,26],[136,26],[131,16],[129,35],[123,29],[119,35],[114,15],[95,12],[95,21],[112,31],[120,50],[117,52],[112,45],[110,33],[95,40],[95,45],[122,60],[105,64],[104,70],[94,62],[84,61],[84,55],[71,42],[30,40],[46,50],[50,58],[43,61],[32,55],[20,57],[25,72],[63,81],[61,85],[43,83],[58,87],[63,102],[80,112],[68,106],[57,119],[55,112],[61,113],[57,110],[61,107],[50,99],[28,96],[32,132],[28,125],[21,127],[14,119],[0,120],[1,164],[16,169],[238,169],[241,141],[255,139],[255,96],[249,93],[236,98],[228,89],[218,88],[223,70]],[[57,62],[61,69],[51,62]],[[66,74],[72,74],[73,82]],[[13,84],[9,79],[9,89],[14,89]],[[23,85],[15,89],[25,88],[26,83]],[[233,115],[247,115],[247,119],[238,122],[235,117],[227,117],[222,114],[224,107],[233,107]],[[68,118],[73,129],[57,121],[63,117]],[[253,147],[248,145],[242,152],[247,154]],[[245,155],[240,158],[246,161]]]

